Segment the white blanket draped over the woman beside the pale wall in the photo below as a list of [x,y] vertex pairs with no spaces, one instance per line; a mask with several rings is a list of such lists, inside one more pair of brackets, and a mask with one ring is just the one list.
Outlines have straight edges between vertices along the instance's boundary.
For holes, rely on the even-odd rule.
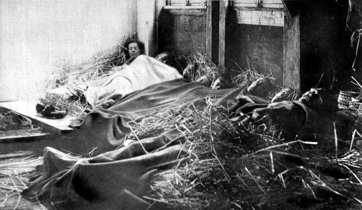
[[114,67],[111,71],[115,73],[101,87],[89,86],[84,91],[85,99],[92,107],[108,108],[127,93],[182,78],[176,68],[147,55],[139,55],[130,65]]

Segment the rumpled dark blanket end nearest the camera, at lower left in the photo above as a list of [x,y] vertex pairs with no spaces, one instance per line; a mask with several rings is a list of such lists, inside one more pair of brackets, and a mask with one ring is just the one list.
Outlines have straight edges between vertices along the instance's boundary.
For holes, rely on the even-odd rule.
[[101,204],[106,205],[102,209],[129,209],[134,202],[150,205],[142,195],[151,190],[153,175],[188,160],[181,140],[177,130],[167,131],[94,158],[74,157],[46,147],[43,167],[37,168],[39,175],[22,195],[34,201],[78,203],[82,208]]

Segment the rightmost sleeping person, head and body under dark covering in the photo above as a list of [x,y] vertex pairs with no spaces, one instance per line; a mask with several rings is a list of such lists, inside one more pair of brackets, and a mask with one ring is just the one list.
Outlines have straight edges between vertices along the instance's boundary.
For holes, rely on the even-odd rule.
[[[308,136],[333,133],[338,137],[351,130],[356,116],[338,110],[334,95],[324,88],[312,88],[296,101],[270,104],[248,102],[236,110],[231,120],[240,123],[264,124],[269,129],[281,130],[283,137]],[[334,122],[334,124],[333,124]]]

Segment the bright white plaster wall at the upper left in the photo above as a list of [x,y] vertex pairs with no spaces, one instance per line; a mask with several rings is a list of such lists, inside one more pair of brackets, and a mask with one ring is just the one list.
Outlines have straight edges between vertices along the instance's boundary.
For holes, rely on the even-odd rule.
[[0,0],[0,101],[36,101],[55,63],[87,59],[136,32],[136,3]]

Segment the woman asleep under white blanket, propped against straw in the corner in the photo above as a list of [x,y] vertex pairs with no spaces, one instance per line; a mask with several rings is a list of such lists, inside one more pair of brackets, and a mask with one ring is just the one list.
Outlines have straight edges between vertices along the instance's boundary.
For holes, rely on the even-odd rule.
[[87,103],[90,108],[106,109],[131,92],[153,84],[182,78],[176,68],[143,55],[143,48],[138,48],[138,46],[138,42],[129,44],[130,59],[127,64],[113,67],[112,73],[104,78],[101,85],[83,83],[75,87],[52,89],[49,92],[71,100],[80,100]]

